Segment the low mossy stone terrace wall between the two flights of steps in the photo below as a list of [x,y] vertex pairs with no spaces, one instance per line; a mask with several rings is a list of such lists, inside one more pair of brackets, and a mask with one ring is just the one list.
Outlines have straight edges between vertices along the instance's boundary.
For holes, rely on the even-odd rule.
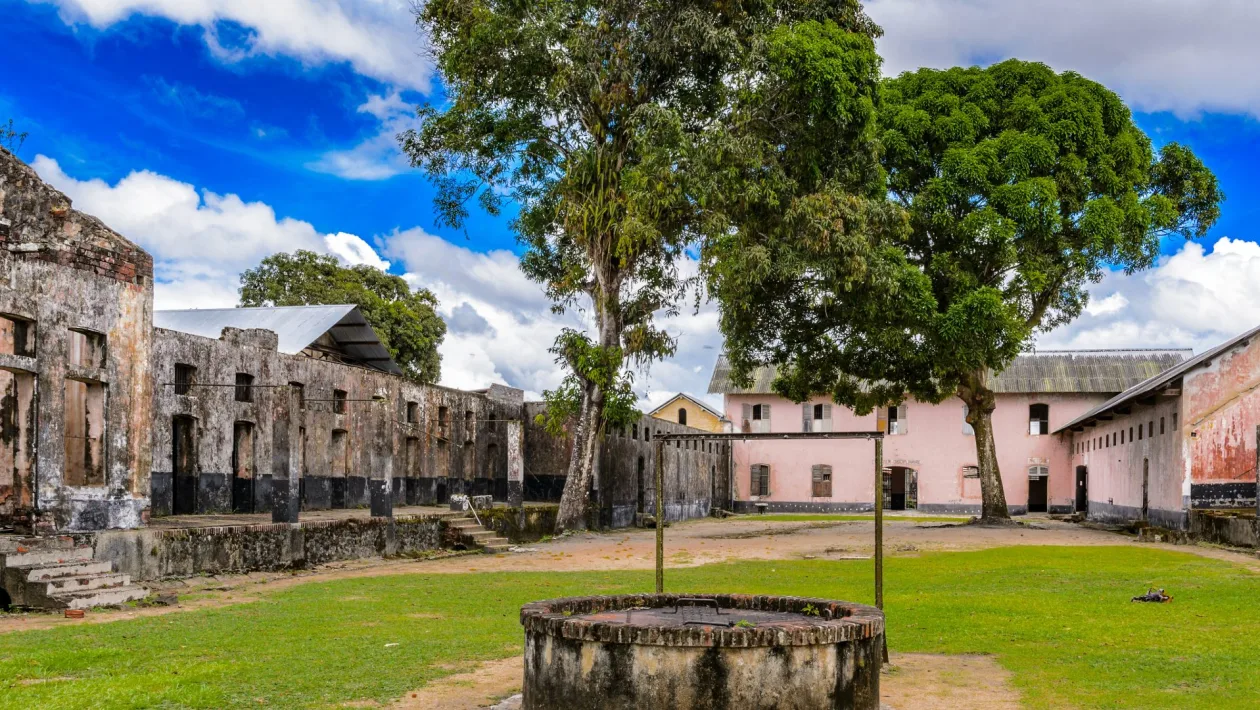
[[94,549],[96,559],[112,561],[116,571],[155,580],[438,550],[449,530],[440,516],[117,530],[98,533]]

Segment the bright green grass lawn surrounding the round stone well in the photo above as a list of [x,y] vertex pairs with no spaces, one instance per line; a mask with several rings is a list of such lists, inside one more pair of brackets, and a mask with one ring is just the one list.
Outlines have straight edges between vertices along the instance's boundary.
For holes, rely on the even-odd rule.
[[[1172,604],[1131,604],[1160,585]],[[388,701],[520,652],[520,604],[639,591],[650,571],[406,575],[262,602],[0,634],[0,707],[328,707]],[[669,570],[667,589],[869,602],[867,561]],[[1143,547],[1003,547],[887,561],[893,651],[993,653],[1031,707],[1249,707],[1260,576]],[[397,646],[387,646],[397,644]]]

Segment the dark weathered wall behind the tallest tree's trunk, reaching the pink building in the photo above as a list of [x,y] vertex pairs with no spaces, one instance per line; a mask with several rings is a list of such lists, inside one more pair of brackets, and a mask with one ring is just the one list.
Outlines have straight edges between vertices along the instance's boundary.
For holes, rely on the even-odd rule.
[[[572,438],[553,438],[534,416],[542,402],[525,405],[525,499],[559,501],[564,489]],[[627,527],[638,513],[655,513],[654,434],[704,434],[654,417],[640,417],[625,430],[609,431],[600,449],[595,502],[601,527]],[[730,444],[670,441],[665,454],[665,520],[704,517],[730,503]]]

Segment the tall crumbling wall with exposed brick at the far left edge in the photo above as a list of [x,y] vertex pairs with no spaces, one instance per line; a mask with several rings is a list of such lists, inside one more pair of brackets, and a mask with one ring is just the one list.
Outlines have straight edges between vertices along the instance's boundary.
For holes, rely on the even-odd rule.
[[[0,315],[0,522],[34,531],[142,525],[151,469],[152,260],[72,209],[69,198],[4,149]],[[14,339],[15,323],[25,347]],[[103,337],[101,357],[72,362],[76,333]],[[91,438],[76,429],[71,439],[78,444],[67,446],[67,397],[83,386],[96,399],[71,425],[86,426]],[[86,417],[98,419],[84,425]],[[86,459],[91,473],[82,480],[67,480],[68,450],[76,468]]]

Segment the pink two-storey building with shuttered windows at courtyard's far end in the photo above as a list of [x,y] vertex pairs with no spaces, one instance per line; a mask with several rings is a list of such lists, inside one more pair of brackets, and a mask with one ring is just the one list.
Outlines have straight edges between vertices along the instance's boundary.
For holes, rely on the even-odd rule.
[[[1082,484],[1087,496],[1077,496],[1077,467],[1090,465],[1081,459],[1089,454],[1076,453],[1077,438],[1094,429],[1086,422],[1087,415],[1106,416],[1100,414],[1101,409],[1114,402],[1119,392],[1159,380],[1160,373],[1192,362],[1191,356],[1191,351],[1168,349],[1042,351],[1021,356],[995,375],[998,409],[993,424],[1011,511],[1071,512],[1085,509],[1089,501],[1092,512],[1094,501],[1114,501],[1114,493],[1097,497],[1111,484],[1090,486],[1089,479],[1095,478],[1090,473]],[[1255,372],[1260,375],[1260,364]],[[804,404],[780,397],[771,391],[774,377],[772,367],[761,368],[751,387],[735,387],[723,357],[713,371],[709,392],[723,395],[726,416],[737,430],[887,431],[883,462],[887,507],[979,512],[975,439],[960,400],[939,405],[910,401],[857,416],[824,397]],[[1072,428],[1081,434],[1071,431]],[[868,441],[736,443],[732,506],[741,512],[751,512],[762,503],[771,511],[869,511],[874,502],[873,468],[874,454]],[[1254,489],[1252,483],[1252,497]],[[1163,496],[1163,488],[1159,491]],[[1128,506],[1130,498],[1121,501],[1125,502],[1106,506]],[[1179,499],[1176,502],[1173,509],[1179,509]],[[1160,497],[1159,504],[1164,503]],[[1100,506],[1097,512],[1111,516],[1111,507]]]

